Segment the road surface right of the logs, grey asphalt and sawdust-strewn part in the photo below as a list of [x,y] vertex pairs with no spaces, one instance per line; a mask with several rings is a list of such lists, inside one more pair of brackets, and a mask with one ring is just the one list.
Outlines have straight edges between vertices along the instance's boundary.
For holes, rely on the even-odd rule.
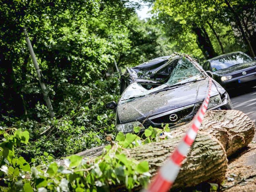
[[[244,90],[237,88],[230,92],[229,96],[233,108],[243,111],[256,124],[256,87],[244,88]],[[234,180],[228,181],[228,178]],[[231,187],[225,192],[256,191],[256,133],[248,148],[229,159],[224,186]]]

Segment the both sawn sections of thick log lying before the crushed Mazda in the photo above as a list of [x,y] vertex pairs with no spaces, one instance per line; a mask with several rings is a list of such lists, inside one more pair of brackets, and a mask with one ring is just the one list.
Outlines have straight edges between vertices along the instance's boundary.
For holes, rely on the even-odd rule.
[[[171,132],[171,139],[128,149],[124,153],[138,161],[147,161],[149,172],[154,175],[174,151],[190,124],[177,127]],[[253,139],[254,129],[254,123],[241,111],[207,111],[201,131],[198,132],[187,158],[183,160],[173,189],[191,187],[205,181],[220,184],[225,178],[227,156],[248,145]],[[140,186],[133,190],[139,189]],[[111,191],[117,190],[125,191],[126,188],[124,185],[111,186]]]

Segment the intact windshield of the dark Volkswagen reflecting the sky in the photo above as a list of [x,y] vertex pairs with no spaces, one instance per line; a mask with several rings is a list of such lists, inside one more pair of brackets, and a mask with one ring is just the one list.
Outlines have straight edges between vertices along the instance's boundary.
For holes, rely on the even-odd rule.
[[252,61],[252,58],[249,55],[246,55],[244,53],[233,53],[211,60],[211,65],[213,71],[218,71],[250,61]]

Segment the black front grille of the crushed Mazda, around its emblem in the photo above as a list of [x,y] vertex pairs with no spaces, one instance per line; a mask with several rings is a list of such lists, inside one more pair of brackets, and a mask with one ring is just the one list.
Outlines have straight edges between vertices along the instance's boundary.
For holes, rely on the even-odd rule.
[[151,119],[151,121],[153,123],[156,123],[156,124],[161,124],[161,123],[173,124],[173,123],[176,123],[176,122],[182,120],[184,117],[188,116],[193,111],[193,108],[194,108],[194,106],[186,108],[186,109],[183,109],[183,110],[180,110],[180,111],[177,111],[175,113],[172,113],[172,114],[176,114],[178,116],[177,120],[175,120],[175,121],[171,121],[170,120],[170,115],[172,115],[172,114],[168,114],[168,115],[165,115],[165,116],[157,117],[155,119]]

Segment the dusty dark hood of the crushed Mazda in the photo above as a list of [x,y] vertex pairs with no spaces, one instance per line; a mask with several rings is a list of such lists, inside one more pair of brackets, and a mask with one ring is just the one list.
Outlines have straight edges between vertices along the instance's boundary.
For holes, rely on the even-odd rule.
[[[181,85],[168,91],[149,94],[124,104],[119,104],[117,106],[117,118],[119,116],[122,124],[140,121],[175,108],[201,102],[206,97],[207,89],[208,79],[204,79],[195,83]],[[217,94],[219,92],[216,86],[212,84],[211,96]]]

